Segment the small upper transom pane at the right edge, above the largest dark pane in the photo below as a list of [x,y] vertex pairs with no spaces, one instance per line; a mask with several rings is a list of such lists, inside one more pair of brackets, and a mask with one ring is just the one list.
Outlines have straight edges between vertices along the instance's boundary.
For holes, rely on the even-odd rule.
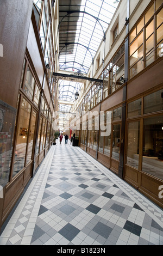
[[144,97],[144,114],[163,110],[163,89]]

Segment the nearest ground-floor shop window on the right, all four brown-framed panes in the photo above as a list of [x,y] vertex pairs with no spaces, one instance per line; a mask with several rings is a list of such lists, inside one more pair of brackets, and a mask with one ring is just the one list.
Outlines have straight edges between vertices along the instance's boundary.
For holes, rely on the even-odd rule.
[[163,180],[163,90],[128,103],[127,109],[126,163]]

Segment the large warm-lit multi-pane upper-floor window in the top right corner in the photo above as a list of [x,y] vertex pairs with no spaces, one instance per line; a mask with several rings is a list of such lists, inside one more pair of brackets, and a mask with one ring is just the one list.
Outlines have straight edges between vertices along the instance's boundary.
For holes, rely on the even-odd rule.
[[162,1],[154,0],[130,33],[129,77],[134,77],[162,56]]

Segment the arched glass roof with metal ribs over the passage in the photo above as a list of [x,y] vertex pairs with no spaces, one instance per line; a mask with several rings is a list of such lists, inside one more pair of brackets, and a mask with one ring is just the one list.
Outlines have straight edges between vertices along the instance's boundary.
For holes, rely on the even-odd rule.
[[[87,74],[118,0],[59,0],[59,69]],[[60,100],[74,102],[79,82],[60,81]],[[70,105],[60,109],[70,109]],[[65,110],[66,111],[66,110]]]

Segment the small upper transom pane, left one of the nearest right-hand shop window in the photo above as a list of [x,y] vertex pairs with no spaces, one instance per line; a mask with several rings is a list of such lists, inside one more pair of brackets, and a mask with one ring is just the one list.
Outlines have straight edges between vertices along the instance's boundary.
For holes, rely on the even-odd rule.
[[141,115],[141,99],[128,103],[127,117],[136,117],[136,115]]

